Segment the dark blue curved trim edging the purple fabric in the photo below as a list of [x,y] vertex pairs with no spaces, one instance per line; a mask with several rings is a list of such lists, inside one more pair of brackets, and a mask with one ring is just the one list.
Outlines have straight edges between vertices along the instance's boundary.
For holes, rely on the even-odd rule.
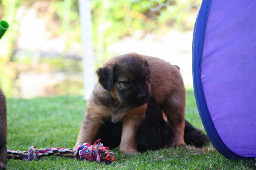
[[[196,105],[204,125],[204,129],[211,140],[213,146],[228,159],[252,159],[252,157],[242,157],[232,152],[221,140],[208,110],[204,90],[201,80],[201,62],[204,48],[204,37],[206,25],[212,0],[203,0],[198,12],[192,47],[192,64],[193,64],[193,85],[196,98]],[[253,158],[254,159],[254,158]]]

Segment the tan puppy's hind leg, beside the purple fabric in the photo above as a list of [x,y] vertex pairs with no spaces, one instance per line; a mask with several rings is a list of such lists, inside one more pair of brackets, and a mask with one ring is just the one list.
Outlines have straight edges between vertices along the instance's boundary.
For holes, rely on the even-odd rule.
[[180,88],[180,91],[174,92],[172,96],[168,97],[160,106],[174,131],[173,142],[170,144],[171,146],[185,145],[185,97],[185,89]]

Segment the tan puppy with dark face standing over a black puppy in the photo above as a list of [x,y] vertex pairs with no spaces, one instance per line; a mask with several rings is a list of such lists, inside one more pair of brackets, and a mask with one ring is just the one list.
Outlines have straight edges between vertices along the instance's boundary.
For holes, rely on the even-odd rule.
[[104,119],[123,122],[120,150],[137,153],[135,134],[145,117],[149,96],[174,130],[171,145],[184,143],[185,88],[179,69],[162,59],[139,54],[110,58],[96,71],[99,82],[87,102],[76,145],[92,143]]

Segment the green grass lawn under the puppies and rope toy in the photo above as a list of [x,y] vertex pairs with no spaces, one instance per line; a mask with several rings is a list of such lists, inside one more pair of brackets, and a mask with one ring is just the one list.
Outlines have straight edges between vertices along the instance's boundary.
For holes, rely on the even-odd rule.
[[[9,99],[7,107],[8,149],[72,148],[83,119],[85,101],[82,97]],[[203,129],[192,90],[187,91],[186,119]],[[111,165],[44,157],[39,161],[8,160],[7,169],[256,169],[253,161],[224,158],[212,144],[202,149],[169,148],[138,156],[126,156],[118,148],[113,151],[116,161]]]

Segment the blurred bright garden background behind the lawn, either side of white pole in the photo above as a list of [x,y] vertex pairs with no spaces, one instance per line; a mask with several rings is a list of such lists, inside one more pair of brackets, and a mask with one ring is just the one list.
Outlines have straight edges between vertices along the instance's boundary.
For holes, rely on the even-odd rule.
[[[95,68],[126,51],[160,53],[181,65],[191,85],[192,31],[200,4],[92,0]],[[0,86],[7,98],[84,94],[78,0],[0,0],[0,19],[10,25],[0,40]]]

